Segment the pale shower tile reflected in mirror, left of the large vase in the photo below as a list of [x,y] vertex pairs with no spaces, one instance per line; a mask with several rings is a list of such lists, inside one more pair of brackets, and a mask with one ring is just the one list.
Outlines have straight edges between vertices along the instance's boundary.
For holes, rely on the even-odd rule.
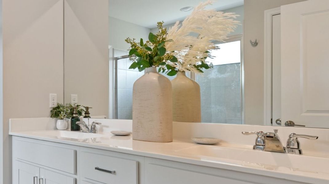
[[[128,55],[128,51],[114,49],[114,57]],[[134,82],[144,75],[137,69],[129,69],[131,65],[129,58],[117,61],[117,112],[118,119],[132,119],[133,85]]]

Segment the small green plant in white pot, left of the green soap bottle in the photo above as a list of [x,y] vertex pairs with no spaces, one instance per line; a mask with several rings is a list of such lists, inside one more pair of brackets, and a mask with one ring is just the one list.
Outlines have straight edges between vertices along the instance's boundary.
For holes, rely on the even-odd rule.
[[65,118],[67,117],[68,113],[69,109],[67,108],[67,106],[60,103],[57,103],[57,106],[51,109],[50,117],[57,118],[57,129],[65,130],[67,128],[67,121],[65,120]]

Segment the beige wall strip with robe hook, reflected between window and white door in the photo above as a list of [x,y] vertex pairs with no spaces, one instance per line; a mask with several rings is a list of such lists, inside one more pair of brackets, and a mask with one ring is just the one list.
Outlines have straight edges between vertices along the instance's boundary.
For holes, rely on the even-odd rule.
[[[245,124],[264,125],[264,11],[304,0],[244,0]],[[257,39],[252,47],[249,40]]]

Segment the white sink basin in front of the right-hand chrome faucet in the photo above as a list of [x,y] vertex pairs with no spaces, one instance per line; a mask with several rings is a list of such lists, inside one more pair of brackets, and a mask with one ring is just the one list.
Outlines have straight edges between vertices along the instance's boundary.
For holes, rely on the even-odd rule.
[[329,173],[328,157],[294,155],[287,153],[275,153],[268,151],[245,150],[218,146],[197,145],[194,147],[176,150],[177,152],[198,155],[205,161],[216,161],[216,158],[225,160],[227,163],[238,164],[241,166],[266,169],[266,170],[285,170],[311,172],[311,173]]

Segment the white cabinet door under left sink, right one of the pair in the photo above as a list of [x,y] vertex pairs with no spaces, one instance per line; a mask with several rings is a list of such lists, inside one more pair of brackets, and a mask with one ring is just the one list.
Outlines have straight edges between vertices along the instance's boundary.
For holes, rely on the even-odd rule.
[[75,178],[41,168],[39,184],[75,184]]

